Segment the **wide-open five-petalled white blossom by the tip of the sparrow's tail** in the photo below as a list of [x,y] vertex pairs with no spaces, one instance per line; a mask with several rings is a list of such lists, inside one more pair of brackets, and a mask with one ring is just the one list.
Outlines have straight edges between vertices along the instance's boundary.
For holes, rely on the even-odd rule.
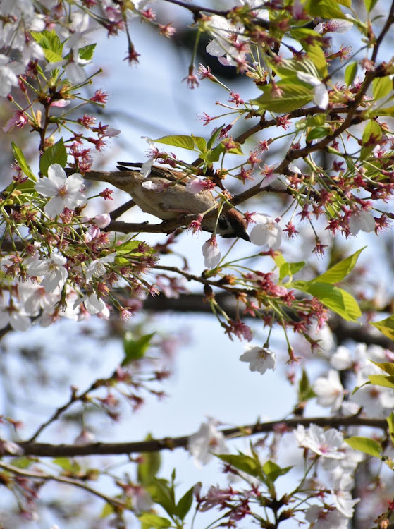
[[66,176],[63,167],[59,164],[52,164],[48,168],[48,178],[41,178],[35,184],[37,193],[51,200],[44,207],[44,212],[49,217],[56,217],[63,209],[75,209],[84,206],[87,198],[81,192],[83,178],[78,173]]

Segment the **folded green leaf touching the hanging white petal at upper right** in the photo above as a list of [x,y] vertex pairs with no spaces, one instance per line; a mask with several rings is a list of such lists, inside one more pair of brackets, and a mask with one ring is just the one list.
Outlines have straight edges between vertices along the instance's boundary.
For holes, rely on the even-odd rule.
[[[282,90],[281,97],[273,97],[271,95],[272,86],[266,85],[263,89],[264,94],[254,99],[252,103],[259,106],[259,110],[269,110],[277,114],[291,112],[295,109],[304,107],[314,98],[314,92],[311,87],[302,85],[301,83],[288,83],[290,78],[279,81],[278,87]],[[293,78],[292,78],[293,79]]]

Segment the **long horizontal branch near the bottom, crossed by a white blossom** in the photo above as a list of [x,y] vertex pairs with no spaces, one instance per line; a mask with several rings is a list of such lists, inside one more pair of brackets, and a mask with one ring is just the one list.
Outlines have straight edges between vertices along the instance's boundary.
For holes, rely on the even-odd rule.
[[[221,430],[223,435],[229,439],[245,437],[254,434],[270,433],[281,428],[293,430],[298,425],[308,426],[315,424],[321,427],[349,427],[363,426],[386,430],[385,419],[362,418],[357,415],[350,417],[311,417],[295,418],[286,420],[276,420],[255,425],[245,425],[241,427],[227,428]],[[114,454],[140,454],[142,452],[156,452],[161,450],[173,450],[176,448],[186,448],[190,435],[182,437],[164,437],[164,439],[151,439],[149,441],[124,442],[124,443],[92,443],[83,446],[75,444],[44,444],[21,442],[19,446],[26,456],[41,457],[75,457],[92,455],[114,455]],[[14,454],[6,454],[14,456]]]

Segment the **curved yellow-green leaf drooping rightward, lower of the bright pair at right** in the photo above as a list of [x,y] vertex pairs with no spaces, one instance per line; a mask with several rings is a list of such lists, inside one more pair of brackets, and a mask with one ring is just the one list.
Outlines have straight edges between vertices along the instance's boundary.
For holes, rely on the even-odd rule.
[[361,316],[355,298],[338,286],[321,281],[296,281],[293,287],[311,294],[347,322],[355,322]]

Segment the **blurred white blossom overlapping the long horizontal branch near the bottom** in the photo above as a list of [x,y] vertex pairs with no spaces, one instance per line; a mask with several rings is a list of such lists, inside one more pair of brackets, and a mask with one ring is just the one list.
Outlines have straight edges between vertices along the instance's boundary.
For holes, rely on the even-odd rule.
[[224,435],[216,428],[216,421],[209,418],[199,427],[199,431],[190,435],[188,449],[197,466],[211,461],[212,454],[226,454],[227,446]]

